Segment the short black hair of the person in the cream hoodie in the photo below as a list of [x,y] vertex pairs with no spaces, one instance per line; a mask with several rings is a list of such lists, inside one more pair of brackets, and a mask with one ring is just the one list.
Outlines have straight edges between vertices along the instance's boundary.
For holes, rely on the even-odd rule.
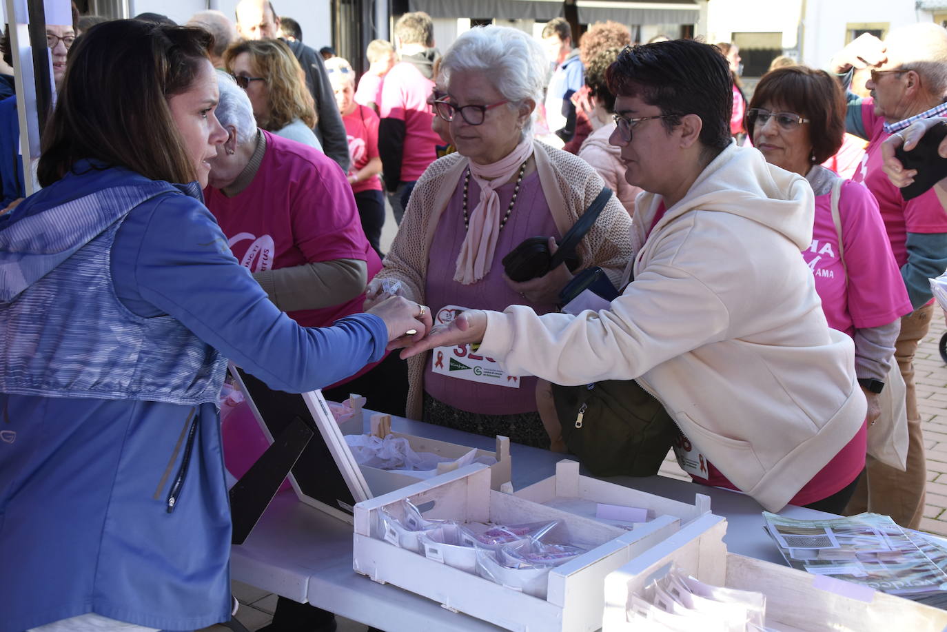
[[618,97],[638,97],[661,109],[669,132],[681,117],[703,121],[700,142],[723,151],[731,142],[733,80],[720,51],[695,40],[670,40],[626,46],[605,73],[608,88]]

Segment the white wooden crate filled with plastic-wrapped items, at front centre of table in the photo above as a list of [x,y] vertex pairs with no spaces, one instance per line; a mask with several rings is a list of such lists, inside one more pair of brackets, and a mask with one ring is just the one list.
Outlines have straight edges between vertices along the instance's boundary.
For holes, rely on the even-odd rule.
[[[625,531],[492,491],[490,477],[487,466],[474,464],[358,503],[354,569],[377,582],[405,588],[450,610],[509,630],[591,632],[601,627],[605,576],[680,529],[679,518],[661,515],[633,531]],[[560,519],[569,533],[597,546],[552,569],[543,600],[379,539],[381,510],[402,499],[409,499],[429,519],[507,524]]]

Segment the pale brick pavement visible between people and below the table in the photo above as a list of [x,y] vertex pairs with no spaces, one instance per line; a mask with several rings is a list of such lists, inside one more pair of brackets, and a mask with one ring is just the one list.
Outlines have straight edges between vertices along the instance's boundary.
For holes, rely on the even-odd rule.
[[[931,331],[921,341],[915,356],[915,382],[918,408],[924,424],[924,446],[927,448],[927,505],[920,528],[930,533],[947,535],[947,366],[940,359],[938,342],[945,331],[944,318],[938,314]],[[661,466],[661,474],[674,479],[689,479],[677,465],[673,453]],[[240,582],[233,583],[234,595],[241,602],[237,618],[250,630],[257,630],[273,619],[276,595]],[[365,625],[340,619],[338,632],[363,632]],[[214,625],[204,632],[229,632],[223,625]]]

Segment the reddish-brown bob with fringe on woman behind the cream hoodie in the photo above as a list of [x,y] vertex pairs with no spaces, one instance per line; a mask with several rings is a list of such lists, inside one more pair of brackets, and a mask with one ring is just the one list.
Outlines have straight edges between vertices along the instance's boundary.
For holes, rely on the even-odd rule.
[[[814,165],[825,162],[842,147],[845,96],[838,81],[825,70],[802,65],[771,70],[759,80],[749,108],[758,108],[764,103],[809,119],[809,137],[813,143],[810,160]],[[754,127],[753,121],[747,120],[746,130],[751,140]]]

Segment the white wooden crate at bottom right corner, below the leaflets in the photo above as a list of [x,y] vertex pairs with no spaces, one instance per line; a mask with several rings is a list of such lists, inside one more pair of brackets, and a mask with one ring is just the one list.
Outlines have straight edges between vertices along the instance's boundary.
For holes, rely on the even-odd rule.
[[[652,577],[663,575],[671,564],[707,584],[762,592],[766,625],[780,632],[947,630],[947,611],[728,553],[725,532],[723,518],[703,516],[612,572],[605,579],[602,632],[634,632],[627,617],[629,596],[647,586]],[[818,587],[823,583],[829,589]]]

